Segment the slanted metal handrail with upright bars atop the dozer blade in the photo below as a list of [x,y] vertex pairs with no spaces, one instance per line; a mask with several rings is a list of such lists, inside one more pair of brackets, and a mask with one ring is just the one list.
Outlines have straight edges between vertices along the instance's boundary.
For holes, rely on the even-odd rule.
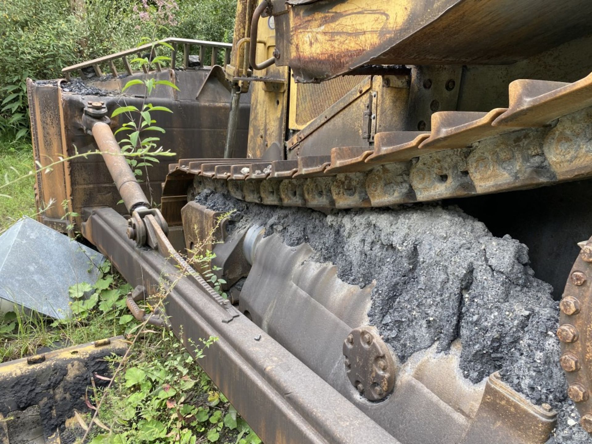
[[[168,37],[165,38],[163,40],[159,40],[155,43],[148,43],[148,44],[144,44],[141,46],[137,46],[135,48],[132,49],[128,49],[125,51],[121,51],[115,54],[110,54],[109,56],[104,56],[104,57],[99,57],[98,59],[93,59],[93,60],[89,60],[88,62],[82,62],[82,63],[77,63],[76,65],[72,65],[72,66],[67,66],[64,69],[62,69],[62,73],[65,76],[67,81],[70,81],[70,73],[73,71],[77,71],[77,70],[82,70],[83,68],[87,68],[87,67],[93,67],[93,69],[95,70],[95,74],[97,76],[102,76],[102,71],[101,71],[101,64],[102,63],[108,63],[111,73],[117,77],[118,72],[117,72],[117,68],[115,67],[115,64],[113,63],[114,60],[117,59],[121,59],[123,61],[123,65],[126,67],[126,71],[128,73],[128,75],[131,75],[133,73],[133,71],[131,70],[131,66],[130,66],[130,62],[127,60],[127,56],[131,56],[131,55],[136,55],[138,53],[142,53],[146,50],[152,50],[153,47],[157,47],[157,46],[163,46],[163,43],[168,43],[170,45],[173,46],[173,50],[172,50],[172,56],[171,56],[171,63],[170,63],[170,67],[172,69],[175,68],[175,56],[176,56],[176,48],[177,45],[183,45],[184,47],[184,66],[185,69],[188,67],[189,65],[189,49],[191,48],[191,46],[199,46],[200,47],[200,62],[203,63],[204,60],[204,49],[205,48],[212,48],[212,66],[216,65],[217,59],[218,59],[218,51],[219,50],[223,50],[224,51],[224,66],[227,65],[227,63],[230,60],[230,51],[232,49],[232,44],[231,43],[223,43],[223,42],[219,42],[219,41],[206,41],[206,40],[193,40],[191,38],[176,38],[176,37]],[[147,72],[146,67],[144,66],[144,72]],[[156,70],[160,71],[160,65],[158,63],[156,63]]]

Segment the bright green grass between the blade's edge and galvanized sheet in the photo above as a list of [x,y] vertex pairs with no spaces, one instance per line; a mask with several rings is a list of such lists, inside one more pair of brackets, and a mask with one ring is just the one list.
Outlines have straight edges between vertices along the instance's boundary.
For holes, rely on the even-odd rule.
[[[34,167],[33,147],[30,143],[0,140],[0,184],[15,181]],[[34,176],[0,189],[0,233],[24,215],[37,213],[33,186]]]

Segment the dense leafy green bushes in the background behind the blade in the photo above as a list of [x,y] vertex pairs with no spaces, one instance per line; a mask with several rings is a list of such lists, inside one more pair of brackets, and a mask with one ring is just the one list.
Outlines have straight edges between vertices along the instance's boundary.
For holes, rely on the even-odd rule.
[[0,137],[28,131],[25,97],[7,99],[24,91],[27,76],[60,78],[65,66],[134,47],[143,37],[231,41],[236,0],[172,3],[175,21],[163,25],[141,20],[141,0],[0,0]]

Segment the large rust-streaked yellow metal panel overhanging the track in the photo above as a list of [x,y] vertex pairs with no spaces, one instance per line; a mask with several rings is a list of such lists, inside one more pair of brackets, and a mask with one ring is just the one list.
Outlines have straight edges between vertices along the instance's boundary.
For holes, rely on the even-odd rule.
[[[532,18],[537,17],[533,22]],[[586,0],[343,0],[278,12],[276,63],[297,81],[333,78],[368,64],[501,65],[586,36]],[[356,35],[356,38],[352,38]]]

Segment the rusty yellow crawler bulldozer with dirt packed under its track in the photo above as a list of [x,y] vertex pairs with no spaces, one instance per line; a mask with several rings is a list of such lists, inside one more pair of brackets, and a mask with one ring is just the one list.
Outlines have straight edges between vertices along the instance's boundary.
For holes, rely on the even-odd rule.
[[[37,176],[39,219],[147,295],[183,270],[170,327],[220,338],[200,363],[266,443],[592,443],[591,22],[589,0],[239,0],[231,45],[29,82],[42,166],[103,154]],[[110,118],[136,78],[180,90],[151,97],[176,158],[142,182]],[[227,298],[187,262],[213,229]]]

